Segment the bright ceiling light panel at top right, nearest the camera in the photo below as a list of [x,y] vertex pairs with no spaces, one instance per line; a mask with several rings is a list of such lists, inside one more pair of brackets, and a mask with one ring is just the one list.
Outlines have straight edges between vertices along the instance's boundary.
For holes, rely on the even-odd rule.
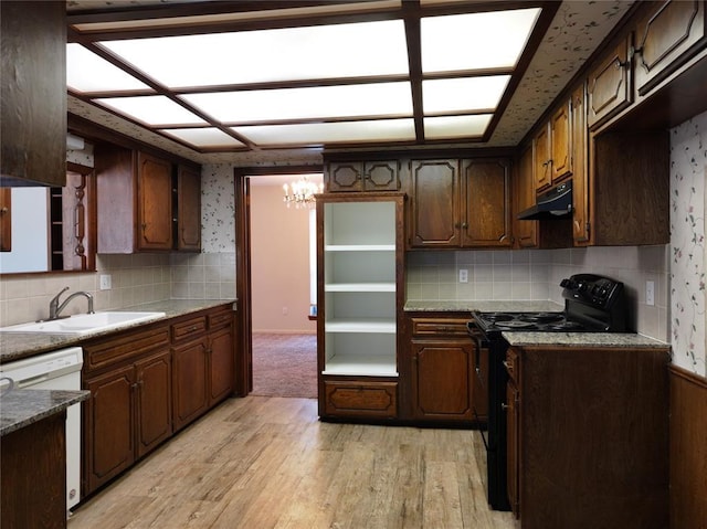
[[513,68],[539,14],[534,8],[423,18],[422,71]]

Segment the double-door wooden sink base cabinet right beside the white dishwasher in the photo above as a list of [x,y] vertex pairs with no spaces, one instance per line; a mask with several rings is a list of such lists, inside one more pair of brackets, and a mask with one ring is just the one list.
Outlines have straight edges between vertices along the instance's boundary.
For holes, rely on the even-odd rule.
[[167,326],[84,346],[84,496],[130,467],[171,433]]

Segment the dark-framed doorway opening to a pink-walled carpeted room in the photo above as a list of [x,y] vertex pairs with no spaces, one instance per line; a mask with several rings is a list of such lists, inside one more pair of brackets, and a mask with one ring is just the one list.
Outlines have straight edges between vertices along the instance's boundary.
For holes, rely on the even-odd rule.
[[[310,213],[288,210],[283,201],[284,182],[313,173],[320,174],[321,167],[234,169],[242,395],[316,398],[316,321],[309,319]],[[300,262],[304,254],[306,269],[295,263],[295,254]],[[316,266],[316,253],[314,257]]]

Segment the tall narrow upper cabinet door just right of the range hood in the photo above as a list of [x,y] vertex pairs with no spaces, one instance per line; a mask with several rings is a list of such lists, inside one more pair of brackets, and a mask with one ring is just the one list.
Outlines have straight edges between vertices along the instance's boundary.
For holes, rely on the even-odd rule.
[[587,105],[584,85],[572,92],[572,236],[574,243],[589,242],[590,187],[587,170]]

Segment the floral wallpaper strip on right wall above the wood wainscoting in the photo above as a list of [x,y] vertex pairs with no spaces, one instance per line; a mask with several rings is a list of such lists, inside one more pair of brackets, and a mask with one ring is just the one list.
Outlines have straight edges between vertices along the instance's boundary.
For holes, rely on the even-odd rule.
[[705,361],[705,177],[707,113],[671,131],[673,362],[703,377]]

